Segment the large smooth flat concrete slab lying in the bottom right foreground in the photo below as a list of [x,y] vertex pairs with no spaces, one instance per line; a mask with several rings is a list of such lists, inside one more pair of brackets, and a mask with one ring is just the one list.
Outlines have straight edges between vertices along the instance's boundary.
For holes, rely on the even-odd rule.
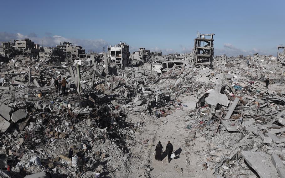
[[241,155],[260,178],[279,177],[269,154],[264,152],[242,151]]

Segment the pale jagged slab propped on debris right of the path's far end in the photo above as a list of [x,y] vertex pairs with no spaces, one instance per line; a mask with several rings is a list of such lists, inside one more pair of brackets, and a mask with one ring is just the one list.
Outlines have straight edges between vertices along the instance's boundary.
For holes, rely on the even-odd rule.
[[229,100],[226,95],[215,92],[215,91],[210,91],[209,93],[210,93],[209,96],[205,98],[208,104],[213,105],[213,106],[217,106],[218,103],[224,106],[229,105]]

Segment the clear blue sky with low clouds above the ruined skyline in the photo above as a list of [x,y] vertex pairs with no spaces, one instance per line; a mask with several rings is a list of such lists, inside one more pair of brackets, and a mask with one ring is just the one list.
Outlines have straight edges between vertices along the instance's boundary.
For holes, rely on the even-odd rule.
[[101,51],[125,41],[132,51],[190,52],[200,33],[215,33],[215,55],[276,55],[285,44],[285,1],[3,1],[0,41],[62,40]]

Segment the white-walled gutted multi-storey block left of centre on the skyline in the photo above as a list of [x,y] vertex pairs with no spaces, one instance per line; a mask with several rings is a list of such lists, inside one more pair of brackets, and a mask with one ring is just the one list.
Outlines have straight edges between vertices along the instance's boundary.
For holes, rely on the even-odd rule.
[[128,61],[130,57],[129,45],[126,42],[120,42],[115,46],[110,46],[110,64],[117,65],[119,68],[124,69],[128,66]]

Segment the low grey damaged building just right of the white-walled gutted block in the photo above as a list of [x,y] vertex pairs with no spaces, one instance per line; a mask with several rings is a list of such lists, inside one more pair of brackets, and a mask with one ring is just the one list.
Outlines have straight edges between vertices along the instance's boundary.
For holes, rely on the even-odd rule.
[[130,58],[131,65],[142,65],[150,60],[150,50],[140,48],[138,51],[133,52]]

